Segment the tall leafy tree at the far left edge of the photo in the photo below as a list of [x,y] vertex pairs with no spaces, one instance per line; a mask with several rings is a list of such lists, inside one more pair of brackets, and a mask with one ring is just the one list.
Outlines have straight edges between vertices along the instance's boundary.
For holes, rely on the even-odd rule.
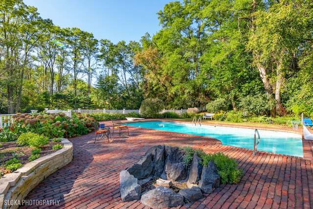
[[0,76],[10,114],[19,111],[25,70],[47,22],[22,0],[0,2]]

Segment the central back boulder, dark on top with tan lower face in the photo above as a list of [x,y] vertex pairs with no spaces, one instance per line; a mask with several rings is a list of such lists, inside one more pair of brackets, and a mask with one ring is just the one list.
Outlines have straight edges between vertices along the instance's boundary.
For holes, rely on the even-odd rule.
[[189,167],[184,163],[185,153],[179,147],[166,147],[165,173],[167,179],[184,181],[188,177]]

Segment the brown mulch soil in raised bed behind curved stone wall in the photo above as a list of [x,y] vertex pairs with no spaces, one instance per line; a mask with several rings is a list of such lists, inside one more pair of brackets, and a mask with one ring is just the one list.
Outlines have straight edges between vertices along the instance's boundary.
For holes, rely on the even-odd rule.
[[[52,149],[55,144],[62,144],[61,142],[49,141],[48,144],[41,147],[40,157],[51,154],[57,150]],[[11,171],[5,169],[5,162],[17,158],[20,163],[29,163],[28,158],[31,156],[31,151],[34,147],[20,146],[16,142],[0,142],[0,178]]]

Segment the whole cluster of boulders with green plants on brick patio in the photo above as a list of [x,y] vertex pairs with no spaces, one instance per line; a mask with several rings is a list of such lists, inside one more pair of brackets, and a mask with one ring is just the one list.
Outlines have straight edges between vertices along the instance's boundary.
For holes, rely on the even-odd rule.
[[203,197],[243,175],[237,162],[222,153],[207,155],[191,147],[151,147],[143,158],[120,172],[122,201],[140,200],[151,208],[177,207]]

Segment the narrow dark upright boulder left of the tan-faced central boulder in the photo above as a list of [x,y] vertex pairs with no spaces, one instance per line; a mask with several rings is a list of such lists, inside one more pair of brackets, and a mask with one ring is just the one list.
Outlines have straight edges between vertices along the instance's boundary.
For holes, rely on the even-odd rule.
[[154,147],[151,147],[147,153],[152,154],[152,160],[154,163],[154,171],[153,175],[155,177],[160,177],[163,173],[164,170],[164,165],[165,165],[165,145],[157,145]]

